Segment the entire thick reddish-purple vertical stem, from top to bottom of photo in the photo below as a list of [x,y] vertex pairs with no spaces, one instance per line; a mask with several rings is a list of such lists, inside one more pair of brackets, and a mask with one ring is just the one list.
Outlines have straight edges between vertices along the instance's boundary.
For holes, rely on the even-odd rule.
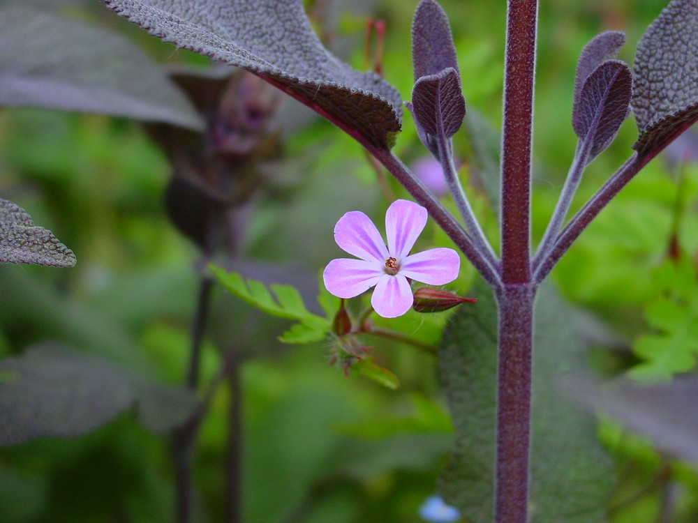
[[509,0],[502,133],[496,523],[528,522],[535,285],[530,271],[530,156],[536,0]]

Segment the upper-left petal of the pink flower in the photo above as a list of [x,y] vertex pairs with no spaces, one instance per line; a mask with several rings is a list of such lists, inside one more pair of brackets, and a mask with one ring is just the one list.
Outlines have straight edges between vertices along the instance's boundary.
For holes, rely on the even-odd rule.
[[334,241],[350,255],[385,264],[388,251],[371,218],[361,211],[350,211],[334,226]]

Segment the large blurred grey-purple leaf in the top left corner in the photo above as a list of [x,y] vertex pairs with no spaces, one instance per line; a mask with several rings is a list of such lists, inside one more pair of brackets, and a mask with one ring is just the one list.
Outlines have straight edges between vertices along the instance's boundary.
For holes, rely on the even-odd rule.
[[0,9],[0,104],[203,127],[165,72],[128,40],[29,7]]

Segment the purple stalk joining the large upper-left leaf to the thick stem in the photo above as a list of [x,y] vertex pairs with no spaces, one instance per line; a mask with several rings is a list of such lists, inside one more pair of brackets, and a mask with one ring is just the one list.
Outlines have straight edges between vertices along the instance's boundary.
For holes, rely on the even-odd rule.
[[386,169],[395,176],[397,181],[403,185],[412,195],[419,205],[426,207],[431,218],[443,229],[443,231],[453,240],[456,246],[470,260],[475,269],[482,275],[482,278],[489,282],[492,287],[500,287],[499,269],[492,266],[486,255],[480,252],[473,243],[473,239],[456,221],[456,219],[444,208],[441,202],[427,189],[417,177],[410,172],[406,165],[396,158],[390,151],[383,149],[369,149],[371,154],[385,165]]

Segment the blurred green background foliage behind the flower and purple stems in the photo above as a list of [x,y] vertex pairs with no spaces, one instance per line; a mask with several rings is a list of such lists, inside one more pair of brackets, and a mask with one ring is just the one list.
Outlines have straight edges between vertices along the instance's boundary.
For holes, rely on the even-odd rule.
[[[78,3],[61,5],[72,13]],[[409,8],[402,0],[327,3],[333,6],[331,14],[316,22],[324,24],[329,46],[357,68],[366,67],[366,18],[385,20],[383,70],[408,99],[407,43],[416,0],[408,2]],[[442,3],[459,50],[466,103],[498,127],[505,5]],[[85,5],[89,10],[80,10],[81,17],[128,35],[159,61],[205,63],[99,5]],[[632,63],[634,44],[664,5],[663,0],[542,2],[534,240],[544,231],[574,152],[570,111],[579,50],[595,33],[621,29],[628,33],[628,45],[619,57]],[[403,127],[396,152],[409,163],[426,151],[409,116]],[[636,135],[629,119],[614,145],[588,169],[577,207],[621,165]],[[380,219],[387,202],[359,146],[329,123],[313,120],[284,147],[285,160],[274,176],[290,180],[291,188],[255,202],[244,245],[253,259],[293,262],[315,274],[339,254],[332,241],[336,220],[356,209]],[[463,176],[469,176],[469,147],[467,137],[456,136],[456,154],[466,160]],[[614,368],[636,363],[637,355],[628,349],[632,340],[654,332],[656,325],[648,324],[642,311],[661,294],[653,274],[667,258],[678,191],[685,202],[678,243],[689,255],[698,249],[698,169],[683,169],[685,182],[679,188],[676,173],[661,158],[654,160],[551,275],[572,303],[621,333],[622,349],[605,358],[614,360]],[[78,259],[69,270],[0,267],[0,356],[59,340],[172,383],[184,380],[198,255],[165,217],[169,172],[165,158],[131,121],[0,109],[0,194],[54,232]],[[396,195],[404,195],[388,183]],[[488,217],[484,229],[493,239],[494,215],[485,209],[482,192],[474,190],[473,197],[476,212]],[[440,231],[432,233],[435,243],[449,245]],[[463,271],[454,288],[466,292],[472,278],[472,271]],[[202,381],[216,378],[221,353],[235,347],[246,354],[241,370],[245,520],[419,521],[417,510],[433,492],[452,440],[434,358],[397,342],[371,340],[376,361],[399,377],[401,387],[389,391],[329,367],[329,347],[322,342],[280,347],[276,336],[288,321],[263,317],[223,292],[214,297]],[[444,321],[410,313],[389,325],[433,343]],[[210,521],[221,521],[225,506],[229,406],[228,389],[216,389],[198,439],[195,479]],[[698,476],[692,466],[659,455],[610,422],[601,432],[621,475],[611,499],[613,523],[656,521],[667,489],[678,490],[671,521],[696,520]],[[44,438],[0,449],[3,522],[168,522],[173,507],[168,440],[149,434],[128,414],[79,439]]]

